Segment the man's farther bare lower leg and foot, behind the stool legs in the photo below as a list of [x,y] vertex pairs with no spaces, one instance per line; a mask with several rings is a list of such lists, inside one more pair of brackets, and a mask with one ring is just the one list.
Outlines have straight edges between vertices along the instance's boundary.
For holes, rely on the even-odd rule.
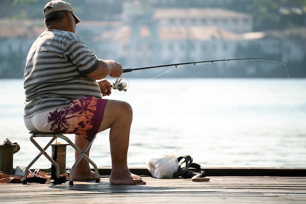
[[[75,145],[77,145],[81,150],[85,148],[87,145],[88,141],[79,136],[75,136]],[[90,149],[89,149],[90,150]],[[87,156],[89,156],[89,150],[86,152]],[[75,160],[79,157],[79,153],[75,151],[74,157]],[[89,163],[85,160],[82,159],[80,163],[75,167],[74,173],[73,173],[73,180],[74,181],[93,181],[95,180],[95,174],[93,171],[90,170]]]

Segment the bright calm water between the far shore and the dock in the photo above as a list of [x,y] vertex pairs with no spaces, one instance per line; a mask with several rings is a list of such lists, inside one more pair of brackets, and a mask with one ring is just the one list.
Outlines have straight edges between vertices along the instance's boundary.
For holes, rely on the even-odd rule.
[[[127,92],[113,90],[109,99],[134,110],[130,167],[178,147],[178,156],[189,154],[202,166],[306,167],[305,79],[129,81]],[[13,165],[25,166],[38,151],[22,119],[22,80],[0,80],[0,87],[0,143],[19,143]],[[110,166],[108,134],[99,133],[90,151],[99,167]],[[66,162],[72,165],[71,147]],[[44,158],[33,165],[49,166]]]

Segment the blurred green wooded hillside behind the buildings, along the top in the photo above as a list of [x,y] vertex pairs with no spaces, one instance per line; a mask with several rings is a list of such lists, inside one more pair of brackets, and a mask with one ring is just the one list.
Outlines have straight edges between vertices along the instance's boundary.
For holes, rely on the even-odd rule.
[[[48,0],[1,0],[0,18],[41,19]],[[120,20],[125,0],[73,0],[74,12],[82,20]],[[172,0],[157,1],[156,7],[222,7],[253,16],[254,31],[285,29],[306,24],[306,0]]]

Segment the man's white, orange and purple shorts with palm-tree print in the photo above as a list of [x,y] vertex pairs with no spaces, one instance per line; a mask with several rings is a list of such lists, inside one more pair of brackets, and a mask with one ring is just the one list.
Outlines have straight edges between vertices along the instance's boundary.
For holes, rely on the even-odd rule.
[[108,100],[86,97],[67,107],[35,114],[25,125],[30,131],[76,134],[91,141],[101,125]]

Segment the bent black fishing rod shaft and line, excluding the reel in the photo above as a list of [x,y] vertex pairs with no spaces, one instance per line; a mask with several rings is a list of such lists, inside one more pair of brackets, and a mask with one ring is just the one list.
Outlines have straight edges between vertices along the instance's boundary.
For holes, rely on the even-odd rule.
[[[123,69],[123,73],[125,72],[131,72],[131,71],[135,71],[135,70],[142,70],[142,69],[152,69],[152,68],[158,68],[158,67],[167,67],[167,66],[175,66],[173,69],[177,68],[178,65],[187,65],[187,64],[207,64],[207,63],[216,63],[216,62],[230,62],[230,61],[275,61],[281,64],[284,64],[285,70],[286,70],[286,74],[288,76],[288,79],[290,79],[289,77],[289,73],[286,67],[286,64],[282,61],[278,61],[278,60],[273,60],[273,59],[267,59],[267,58],[242,58],[242,59],[227,59],[227,60],[210,60],[210,61],[193,61],[193,62],[183,62],[183,63],[174,63],[174,64],[163,64],[163,65],[154,65],[154,66],[145,66],[145,67],[137,67],[137,68],[125,68]],[[188,66],[188,65],[187,65]],[[180,66],[182,67],[182,66]],[[173,69],[170,69],[156,77],[159,77]],[[154,77],[154,78],[156,78]],[[152,78],[152,79],[154,79]],[[152,80],[151,79],[151,80]]]

